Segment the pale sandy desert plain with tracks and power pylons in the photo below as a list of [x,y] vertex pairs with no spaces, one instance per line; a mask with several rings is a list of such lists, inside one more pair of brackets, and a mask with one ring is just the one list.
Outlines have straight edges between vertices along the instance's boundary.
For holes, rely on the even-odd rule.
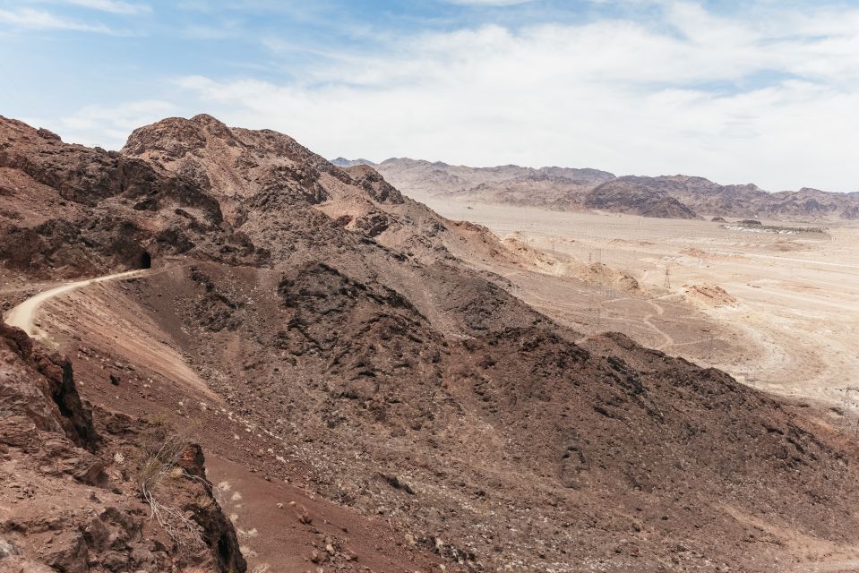
[[563,265],[539,275],[496,269],[529,304],[581,332],[623,331],[754,387],[820,400],[833,417],[859,405],[859,389],[845,390],[859,388],[859,226],[774,235],[710,221],[427,202],[559,261],[598,261],[639,281],[640,290],[624,292],[583,283]]

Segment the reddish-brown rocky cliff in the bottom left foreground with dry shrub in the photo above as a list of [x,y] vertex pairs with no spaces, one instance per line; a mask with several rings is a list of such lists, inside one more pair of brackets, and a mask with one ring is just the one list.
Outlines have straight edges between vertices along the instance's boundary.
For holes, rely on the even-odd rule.
[[175,430],[93,421],[71,363],[0,322],[0,569],[245,571],[205,477]]

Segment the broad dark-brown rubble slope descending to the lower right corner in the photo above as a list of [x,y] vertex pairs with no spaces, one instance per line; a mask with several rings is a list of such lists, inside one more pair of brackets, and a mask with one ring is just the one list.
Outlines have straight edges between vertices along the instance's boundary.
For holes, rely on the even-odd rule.
[[[322,265],[251,289],[210,265],[188,279],[164,328],[194,332],[182,351],[202,372],[245,381],[221,389],[232,406],[278,421],[317,492],[467,569],[766,571],[802,560],[800,537],[854,543],[849,439],[723,372],[551,326],[445,338],[402,295]],[[212,322],[209,283],[253,292],[253,319]]]

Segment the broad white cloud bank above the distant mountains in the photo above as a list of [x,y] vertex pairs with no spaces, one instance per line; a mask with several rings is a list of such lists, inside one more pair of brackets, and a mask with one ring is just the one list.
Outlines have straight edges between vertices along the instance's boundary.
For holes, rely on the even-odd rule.
[[301,80],[288,83],[189,76],[176,81],[177,107],[278,129],[329,157],[859,190],[859,10],[776,6],[741,20],[664,4],[658,25],[608,19],[401,38],[291,70]]

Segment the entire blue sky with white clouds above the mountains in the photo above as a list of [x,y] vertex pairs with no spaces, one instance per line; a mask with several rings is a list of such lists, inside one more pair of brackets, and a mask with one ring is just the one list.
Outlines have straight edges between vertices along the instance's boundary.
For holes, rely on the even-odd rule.
[[0,0],[0,115],[859,191],[859,0]]

